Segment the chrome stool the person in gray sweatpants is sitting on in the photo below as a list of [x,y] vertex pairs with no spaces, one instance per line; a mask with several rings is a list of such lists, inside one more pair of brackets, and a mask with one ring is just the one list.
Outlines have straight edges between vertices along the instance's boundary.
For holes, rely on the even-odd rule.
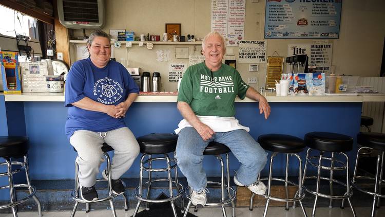
[[[76,149],[73,149],[73,150],[75,152],[77,152]],[[109,201],[110,207],[111,207],[111,211],[112,211],[112,216],[114,216],[114,217],[117,216],[117,213],[115,212],[115,207],[113,205],[113,201],[112,200],[113,200],[113,198],[115,198],[118,195],[112,193],[112,184],[111,184],[112,178],[111,178],[111,175],[110,175],[111,174],[111,160],[110,160],[110,156],[107,153],[109,151],[113,151],[113,148],[108,146],[107,143],[103,143],[102,151],[103,151],[104,157],[107,160],[106,170],[107,170],[107,178],[108,178],[108,180],[106,180],[104,178],[99,178],[96,181],[97,182],[103,182],[103,181],[108,182],[108,195],[105,196],[105,197],[102,197],[102,198],[98,198],[98,200],[92,201],[92,202],[86,202],[86,201],[82,200],[82,197],[79,194],[79,188],[80,188],[79,177],[78,177],[79,165],[78,165],[78,160],[77,160],[77,158],[79,156],[76,157],[76,160],[75,160],[75,189],[71,193],[72,198],[75,201],[75,206],[73,207],[73,210],[72,210],[72,213],[71,213],[71,217],[73,217],[75,215],[76,208],[78,208],[79,203],[86,204],[86,213],[88,213],[90,211],[90,209],[89,209],[89,204],[90,203],[94,204],[94,203],[99,203],[99,202],[103,202],[103,201]],[[126,187],[126,184],[123,182],[123,180],[121,180],[121,181],[122,181],[124,187]],[[122,195],[123,195],[123,198],[124,198],[124,210],[127,211],[128,210],[127,195],[126,195],[126,193],[123,193]]]

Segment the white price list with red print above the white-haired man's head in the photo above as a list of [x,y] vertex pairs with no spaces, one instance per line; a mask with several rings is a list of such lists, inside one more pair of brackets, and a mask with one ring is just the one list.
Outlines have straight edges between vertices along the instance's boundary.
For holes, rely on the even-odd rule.
[[238,46],[244,37],[245,0],[211,0],[211,31],[226,39],[227,46]]

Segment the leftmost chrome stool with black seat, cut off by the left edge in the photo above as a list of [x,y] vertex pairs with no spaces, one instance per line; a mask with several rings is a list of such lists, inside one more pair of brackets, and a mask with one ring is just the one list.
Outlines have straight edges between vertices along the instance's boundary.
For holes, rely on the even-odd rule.
[[[11,203],[1,205],[0,209],[11,208],[13,216],[17,216],[16,206],[22,204],[29,200],[31,197],[36,202],[38,216],[42,216],[42,208],[40,201],[35,196],[36,188],[31,185],[29,179],[29,165],[27,152],[29,149],[28,138],[24,136],[0,136],[0,157],[4,158],[6,162],[0,163],[0,166],[6,166],[7,172],[0,173],[1,176],[8,177],[8,185],[0,186],[0,189],[9,188]],[[23,157],[23,162],[13,161],[11,158]],[[12,166],[20,166],[17,169],[12,168]],[[27,184],[13,184],[13,174],[18,173],[22,170],[25,170]],[[20,200],[16,199],[15,188],[28,188],[29,194],[21,198]]]

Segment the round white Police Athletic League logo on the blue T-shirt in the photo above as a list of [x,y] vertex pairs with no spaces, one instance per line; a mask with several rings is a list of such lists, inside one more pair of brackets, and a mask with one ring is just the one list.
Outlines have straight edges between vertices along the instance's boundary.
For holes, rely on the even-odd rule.
[[123,87],[108,77],[99,79],[93,85],[93,96],[103,104],[111,105],[123,97]]

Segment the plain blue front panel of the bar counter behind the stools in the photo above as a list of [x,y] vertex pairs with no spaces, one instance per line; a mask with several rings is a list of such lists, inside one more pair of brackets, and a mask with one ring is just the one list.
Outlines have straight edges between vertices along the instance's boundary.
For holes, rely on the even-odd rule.
[[[67,108],[63,102],[4,102],[0,96],[1,135],[26,135],[30,140],[30,174],[34,180],[73,179],[76,157],[64,125]],[[352,136],[359,132],[361,102],[271,102],[271,116],[265,120],[259,114],[258,103],[236,103],[236,118],[249,126],[250,134],[282,133],[303,138],[311,131],[327,131]],[[135,102],[125,121],[136,136],[149,133],[173,132],[182,119],[176,102]],[[6,120],[6,121],[5,121]],[[356,145],[350,156],[355,156]],[[304,156],[304,153],[301,153]],[[284,174],[284,156],[275,158],[275,174]],[[279,163],[282,162],[282,164]],[[355,161],[351,157],[351,164]],[[219,176],[214,157],[206,157],[204,167],[208,176]],[[230,172],[239,167],[230,155]],[[290,171],[297,170],[296,165]],[[262,175],[267,175],[267,167]],[[181,174],[181,173],[180,173]],[[139,158],[123,177],[139,177]],[[0,181],[1,182],[1,181]]]

